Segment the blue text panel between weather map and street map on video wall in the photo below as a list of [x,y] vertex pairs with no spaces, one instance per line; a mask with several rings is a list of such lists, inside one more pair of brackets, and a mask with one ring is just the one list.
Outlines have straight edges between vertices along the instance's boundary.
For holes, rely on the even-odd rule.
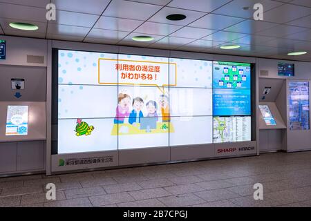
[[251,115],[251,93],[248,89],[214,89],[213,115]]

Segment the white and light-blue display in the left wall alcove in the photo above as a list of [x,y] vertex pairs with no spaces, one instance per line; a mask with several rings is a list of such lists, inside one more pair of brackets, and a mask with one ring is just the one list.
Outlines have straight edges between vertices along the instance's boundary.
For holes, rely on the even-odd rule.
[[6,135],[28,134],[28,106],[8,106]]

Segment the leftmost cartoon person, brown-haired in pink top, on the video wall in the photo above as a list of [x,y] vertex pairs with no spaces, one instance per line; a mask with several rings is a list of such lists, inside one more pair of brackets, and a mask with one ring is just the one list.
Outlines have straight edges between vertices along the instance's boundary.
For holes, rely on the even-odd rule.
[[120,93],[117,96],[117,108],[115,113],[115,124],[123,124],[124,118],[129,116],[129,106],[131,104],[131,97],[127,94]]

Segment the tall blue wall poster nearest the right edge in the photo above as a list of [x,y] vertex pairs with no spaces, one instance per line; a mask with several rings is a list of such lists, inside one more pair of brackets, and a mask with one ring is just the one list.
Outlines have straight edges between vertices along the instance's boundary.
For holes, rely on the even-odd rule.
[[309,82],[290,81],[290,130],[309,129]]

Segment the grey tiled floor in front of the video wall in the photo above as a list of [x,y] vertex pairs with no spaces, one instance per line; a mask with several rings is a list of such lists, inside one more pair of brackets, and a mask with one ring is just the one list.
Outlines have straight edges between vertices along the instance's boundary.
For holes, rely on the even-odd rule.
[[[57,199],[46,200],[47,183]],[[253,185],[263,184],[263,200]],[[0,178],[0,206],[311,206],[311,152]]]

